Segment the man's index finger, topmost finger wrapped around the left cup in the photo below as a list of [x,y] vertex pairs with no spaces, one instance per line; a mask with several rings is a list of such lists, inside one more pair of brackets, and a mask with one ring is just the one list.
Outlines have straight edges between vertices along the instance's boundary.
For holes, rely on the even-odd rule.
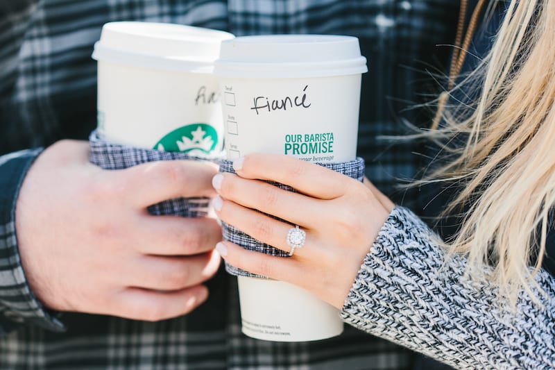
[[105,187],[144,208],[167,199],[214,196],[211,181],[216,165],[196,160],[148,162],[128,169],[105,171]]

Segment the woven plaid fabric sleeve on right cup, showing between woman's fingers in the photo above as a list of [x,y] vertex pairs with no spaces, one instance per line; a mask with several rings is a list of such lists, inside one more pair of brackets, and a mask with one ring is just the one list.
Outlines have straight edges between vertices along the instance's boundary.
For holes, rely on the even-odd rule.
[[[332,171],[339,172],[345,176],[349,176],[351,178],[355,178],[356,180],[362,181],[364,180],[364,160],[362,158],[357,158],[356,160],[350,160],[348,162],[339,162],[339,163],[316,163],[317,165],[321,165],[326,167],[327,169],[331,169]],[[233,169],[233,161],[232,160],[222,160],[220,165],[221,172],[229,172],[234,174],[235,171]],[[287,190],[289,192],[296,192],[295,189],[290,187],[289,185],[283,185],[280,183],[270,182],[272,185],[280,187],[283,190]],[[222,222],[222,232],[223,232],[223,239],[229,240],[239,246],[242,246],[244,249],[248,249],[249,251],[257,251],[259,253],[266,253],[269,255],[275,255],[278,257],[288,257],[289,253],[281,251],[280,249],[274,248],[271,245],[266,243],[260,242],[259,240],[251,237],[250,235],[244,233],[243,231],[235,228],[234,226]],[[254,278],[265,278],[265,276],[260,276],[257,274],[250,273],[243,269],[239,269],[238,267],[234,267],[232,264],[229,264],[227,261],[225,262],[225,270],[228,271],[232,275],[236,276],[251,276]]]

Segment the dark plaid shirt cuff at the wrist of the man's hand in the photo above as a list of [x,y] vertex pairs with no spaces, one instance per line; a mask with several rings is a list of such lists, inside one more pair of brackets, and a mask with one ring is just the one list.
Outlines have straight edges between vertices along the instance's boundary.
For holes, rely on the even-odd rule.
[[17,246],[17,196],[27,170],[40,152],[41,149],[31,149],[0,157],[0,335],[26,324],[64,330],[31,291]]

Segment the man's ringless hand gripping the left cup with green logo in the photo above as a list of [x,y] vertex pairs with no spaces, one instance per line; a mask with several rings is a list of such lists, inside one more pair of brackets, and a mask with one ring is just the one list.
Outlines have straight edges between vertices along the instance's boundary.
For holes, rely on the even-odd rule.
[[180,196],[214,196],[215,166],[152,162],[106,171],[86,142],[42,153],[16,207],[19,252],[37,298],[55,310],[155,321],[194,310],[219,267],[221,228],[210,218],[149,215]]

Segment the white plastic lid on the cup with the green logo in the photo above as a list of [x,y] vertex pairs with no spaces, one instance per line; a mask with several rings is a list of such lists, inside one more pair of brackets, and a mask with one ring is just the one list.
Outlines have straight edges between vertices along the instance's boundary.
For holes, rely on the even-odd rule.
[[110,22],[102,27],[92,58],[124,65],[212,73],[231,33],[151,22]]

